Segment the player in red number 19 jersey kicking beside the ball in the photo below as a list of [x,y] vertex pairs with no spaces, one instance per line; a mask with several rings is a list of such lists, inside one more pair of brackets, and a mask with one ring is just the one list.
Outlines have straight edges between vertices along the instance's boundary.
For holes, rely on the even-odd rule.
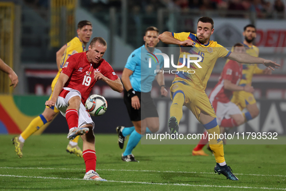
[[87,52],[77,53],[66,61],[55,85],[53,96],[45,102],[46,106],[56,106],[65,116],[69,133],[73,140],[81,135],[83,140],[83,158],[86,174],[83,179],[102,180],[96,172],[94,122],[86,111],[85,102],[98,80],[105,81],[114,91],[122,92],[123,85],[112,67],[102,59],[107,44],[102,37],[95,37],[90,42]]

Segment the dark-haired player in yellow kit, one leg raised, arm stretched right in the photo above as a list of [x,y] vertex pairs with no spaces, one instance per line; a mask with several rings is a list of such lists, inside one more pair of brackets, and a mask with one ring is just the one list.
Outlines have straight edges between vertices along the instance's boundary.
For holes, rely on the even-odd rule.
[[[213,31],[213,20],[210,17],[201,17],[197,22],[196,34],[190,32],[164,32],[159,35],[159,39],[162,42],[180,46],[181,52],[178,66],[185,64],[184,66],[180,66],[181,68],[177,68],[178,73],[170,88],[173,102],[170,108],[171,117],[168,121],[168,126],[171,133],[178,132],[182,117],[182,106],[185,105],[193,112],[196,119],[209,133],[210,147],[216,160],[214,171],[225,175],[228,179],[238,180],[232,174],[231,168],[226,165],[223,142],[218,138],[220,131],[216,115],[205,93],[211,71],[219,57],[229,58],[240,63],[264,64],[272,70],[274,70],[273,68],[278,68],[280,65],[271,60],[227,50],[217,44],[217,42],[210,41]],[[197,57],[199,55],[201,60],[196,57],[194,60],[200,60],[200,62],[190,63],[188,68],[186,59],[183,59],[183,57],[185,55],[185,58],[187,58],[189,54],[196,55]]]

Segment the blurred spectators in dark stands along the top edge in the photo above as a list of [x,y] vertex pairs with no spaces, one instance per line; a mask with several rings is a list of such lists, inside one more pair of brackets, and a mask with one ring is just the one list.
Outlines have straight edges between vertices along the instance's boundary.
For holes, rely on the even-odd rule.
[[[25,0],[38,8],[48,8],[48,0]],[[121,6],[121,0],[81,0],[81,5],[93,12]],[[238,10],[255,11],[260,18],[274,12],[285,13],[283,0],[129,0],[128,8],[133,13],[152,14],[160,8],[176,11],[198,10]]]

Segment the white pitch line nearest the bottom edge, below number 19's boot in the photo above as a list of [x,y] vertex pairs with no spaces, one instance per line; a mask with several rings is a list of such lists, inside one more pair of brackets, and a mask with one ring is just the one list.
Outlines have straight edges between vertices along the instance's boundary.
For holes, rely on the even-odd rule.
[[[63,179],[63,180],[84,180],[79,178],[59,178],[59,177],[45,177],[45,176],[20,176],[20,175],[0,175],[8,177],[22,177],[22,178],[43,178],[43,179]],[[105,182],[105,181],[103,181]],[[267,187],[246,187],[246,186],[216,186],[216,185],[195,185],[195,184],[167,184],[167,183],[152,183],[152,182],[132,182],[132,181],[116,181],[107,180],[106,182],[118,183],[134,183],[134,184],[151,184],[151,185],[167,185],[167,186],[191,186],[191,187],[214,187],[214,188],[236,188],[236,189],[264,189],[264,190],[286,190],[280,188],[267,188]]]

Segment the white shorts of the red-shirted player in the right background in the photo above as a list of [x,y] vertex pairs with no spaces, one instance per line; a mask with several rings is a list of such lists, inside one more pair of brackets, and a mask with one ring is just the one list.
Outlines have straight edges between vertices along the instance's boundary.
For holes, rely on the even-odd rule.
[[216,104],[216,108],[214,108],[215,110],[215,114],[216,114],[216,121],[217,121],[217,125],[221,125],[222,120],[224,118],[229,119],[230,115],[235,115],[235,114],[241,114],[242,112],[239,109],[239,107],[237,105],[235,105],[234,103],[227,102],[227,103],[222,103],[222,102],[217,102]]

